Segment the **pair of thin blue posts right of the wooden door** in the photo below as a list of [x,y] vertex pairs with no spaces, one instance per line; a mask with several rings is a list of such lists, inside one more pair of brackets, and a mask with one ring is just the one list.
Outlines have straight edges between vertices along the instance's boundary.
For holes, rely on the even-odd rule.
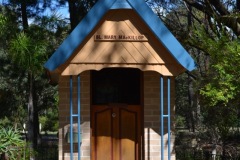
[[168,132],[168,160],[171,159],[171,79],[167,77],[167,114],[164,114],[164,78],[160,77],[160,134],[161,134],[161,160],[164,160],[164,119],[167,119]]

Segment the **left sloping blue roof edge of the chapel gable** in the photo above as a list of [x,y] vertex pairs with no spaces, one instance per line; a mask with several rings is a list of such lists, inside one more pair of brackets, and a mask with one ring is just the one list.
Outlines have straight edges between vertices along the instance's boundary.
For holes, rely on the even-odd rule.
[[99,0],[44,64],[44,67],[49,71],[54,71],[70,58],[75,49],[90,34],[114,2],[115,0]]

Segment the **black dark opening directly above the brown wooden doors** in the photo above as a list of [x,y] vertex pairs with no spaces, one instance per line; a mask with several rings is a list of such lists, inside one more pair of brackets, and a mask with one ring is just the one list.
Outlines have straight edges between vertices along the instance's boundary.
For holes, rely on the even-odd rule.
[[105,68],[92,71],[92,104],[140,105],[141,71],[133,68]]

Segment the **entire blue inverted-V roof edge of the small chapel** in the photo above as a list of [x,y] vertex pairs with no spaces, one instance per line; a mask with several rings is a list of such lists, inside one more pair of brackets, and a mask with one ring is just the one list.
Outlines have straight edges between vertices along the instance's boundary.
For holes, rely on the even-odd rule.
[[133,9],[179,64],[188,71],[195,69],[196,64],[192,57],[144,0],[99,0],[49,58],[44,67],[49,71],[54,71],[64,64],[111,9]]

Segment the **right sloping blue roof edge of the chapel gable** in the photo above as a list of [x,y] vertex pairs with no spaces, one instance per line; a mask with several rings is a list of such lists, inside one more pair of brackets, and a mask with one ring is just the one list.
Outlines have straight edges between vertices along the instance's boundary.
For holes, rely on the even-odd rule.
[[189,53],[182,47],[178,40],[172,35],[159,17],[147,6],[144,0],[127,0],[135,12],[147,24],[150,30],[156,35],[158,40],[172,54],[186,70],[192,71],[196,68],[196,63]]

